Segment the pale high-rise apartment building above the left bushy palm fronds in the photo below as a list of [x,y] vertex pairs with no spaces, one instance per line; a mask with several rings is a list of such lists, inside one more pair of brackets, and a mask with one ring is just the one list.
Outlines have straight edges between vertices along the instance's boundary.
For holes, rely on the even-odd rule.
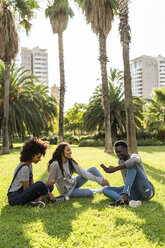
[[35,47],[32,50],[21,48],[21,66],[30,69],[40,82],[48,86],[48,54],[46,49]]

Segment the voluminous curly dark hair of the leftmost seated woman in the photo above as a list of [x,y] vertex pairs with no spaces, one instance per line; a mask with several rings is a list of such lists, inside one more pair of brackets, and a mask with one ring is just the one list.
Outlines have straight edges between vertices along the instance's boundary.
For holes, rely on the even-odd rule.
[[28,162],[31,161],[34,155],[41,153],[43,156],[46,153],[48,148],[49,142],[42,141],[37,139],[36,137],[31,138],[30,140],[26,141],[20,156],[21,162]]

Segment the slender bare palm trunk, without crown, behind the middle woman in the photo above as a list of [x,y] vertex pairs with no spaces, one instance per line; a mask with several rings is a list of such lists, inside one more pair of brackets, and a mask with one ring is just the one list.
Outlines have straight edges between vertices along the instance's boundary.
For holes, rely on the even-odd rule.
[[58,45],[59,45],[59,67],[60,67],[59,142],[62,142],[64,140],[64,96],[65,96],[63,33],[58,33]]

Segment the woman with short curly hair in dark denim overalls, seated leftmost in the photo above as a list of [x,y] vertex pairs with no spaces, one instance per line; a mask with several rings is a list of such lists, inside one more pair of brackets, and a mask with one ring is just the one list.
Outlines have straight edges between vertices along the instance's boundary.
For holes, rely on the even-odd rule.
[[42,201],[35,201],[48,193],[48,187],[53,186],[54,180],[46,183],[33,182],[32,163],[37,164],[45,155],[48,142],[37,138],[28,140],[21,151],[20,163],[16,167],[14,177],[8,189],[8,201],[12,206],[29,203],[32,206],[44,207]]

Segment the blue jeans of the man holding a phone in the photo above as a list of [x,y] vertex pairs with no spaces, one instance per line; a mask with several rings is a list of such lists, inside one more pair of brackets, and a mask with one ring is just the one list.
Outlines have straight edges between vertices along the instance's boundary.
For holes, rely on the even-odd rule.
[[139,166],[127,169],[127,177],[124,186],[105,187],[103,194],[109,198],[118,201],[122,194],[128,195],[128,200],[149,200],[152,188],[148,179]]

